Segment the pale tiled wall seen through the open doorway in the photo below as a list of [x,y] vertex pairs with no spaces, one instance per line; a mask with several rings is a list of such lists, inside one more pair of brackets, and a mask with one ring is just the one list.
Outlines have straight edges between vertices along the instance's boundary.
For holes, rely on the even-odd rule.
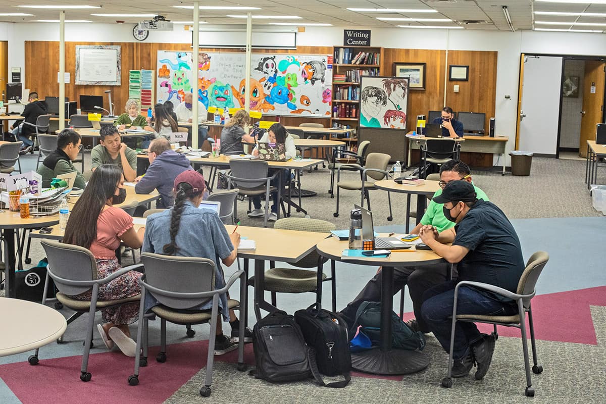
[[579,148],[581,110],[583,109],[583,76],[585,61],[564,60],[564,76],[579,78],[579,96],[562,98],[562,120],[559,147]]

